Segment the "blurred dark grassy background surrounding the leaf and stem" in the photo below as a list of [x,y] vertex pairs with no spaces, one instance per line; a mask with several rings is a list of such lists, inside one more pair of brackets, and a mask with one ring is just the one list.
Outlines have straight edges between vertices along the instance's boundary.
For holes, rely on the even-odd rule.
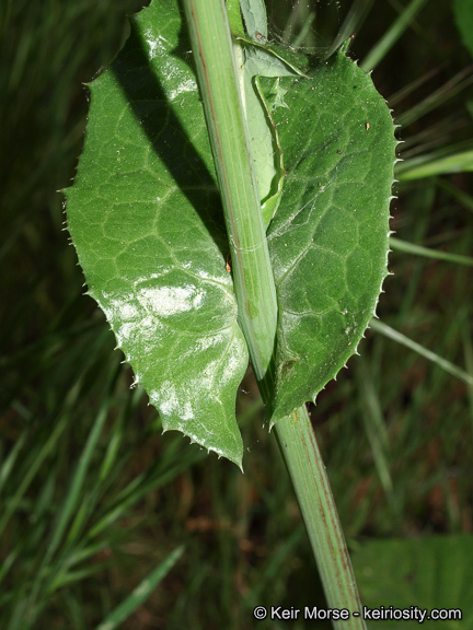
[[[95,628],[184,545],[145,604],[132,611],[126,600],[120,628],[302,628],[252,615],[324,605],[252,374],[238,397],[244,475],[162,435],[82,295],[64,231],[57,190],[71,184],[83,142],[83,83],[113,60],[141,4],[0,7],[0,627]],[[392,203],[401,243],[378,315],[461,372],[378,327],[311,411],[364,602],[460,607],[469,620],[435,628],[471,630],[472,259],[448,255],[471,255],[473,234],[472,2],[268,0],[269,33],[318,56],[356,33],[362,65],[407,5],[418,13],[373,70],[403,125],[405,160]],[[446,158],[457,172],[446,173]]]

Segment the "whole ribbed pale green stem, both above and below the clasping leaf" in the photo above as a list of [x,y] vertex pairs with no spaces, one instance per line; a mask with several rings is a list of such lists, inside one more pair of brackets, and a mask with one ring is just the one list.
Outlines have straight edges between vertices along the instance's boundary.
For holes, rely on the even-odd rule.
[[[273,385],[277,304],[253,159],[223,0],[184,0],[197,79],[212,148],[232,256],[239,320],[263,399]],[[305,406],[276,425],[295,485],[327,603],[359,611],[360,604],[325,467]],[[362,620],[335,621],[360,630]]]

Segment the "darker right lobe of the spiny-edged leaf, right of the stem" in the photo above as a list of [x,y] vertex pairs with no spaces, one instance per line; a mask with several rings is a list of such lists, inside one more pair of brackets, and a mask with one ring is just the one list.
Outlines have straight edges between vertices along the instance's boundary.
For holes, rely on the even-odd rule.
[[383,98],[343,51],[280,86],[286,107],[272,115],[288,175],[268,230],[279,305],[274,420],[315,399],[373,315],[396,144]]

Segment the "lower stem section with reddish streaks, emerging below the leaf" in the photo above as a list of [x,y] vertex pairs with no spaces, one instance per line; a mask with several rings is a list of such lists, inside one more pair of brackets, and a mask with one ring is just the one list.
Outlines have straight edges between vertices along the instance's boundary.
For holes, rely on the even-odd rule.
[[305,405],[275,427],[330,608],[345,608],[350,618],[334,621],[336,629],[366,628],[351,562],[339,523],[326,469]]

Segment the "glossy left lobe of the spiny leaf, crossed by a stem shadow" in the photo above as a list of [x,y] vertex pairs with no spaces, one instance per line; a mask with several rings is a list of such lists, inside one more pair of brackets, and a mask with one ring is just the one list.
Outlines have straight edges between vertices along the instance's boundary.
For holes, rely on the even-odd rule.
[[164,430],[241,465],[234,420],[247,365],[226,269],[210,147],[174,2],[136,19],[91,85],[68,226],[89,293],[161,412]]

